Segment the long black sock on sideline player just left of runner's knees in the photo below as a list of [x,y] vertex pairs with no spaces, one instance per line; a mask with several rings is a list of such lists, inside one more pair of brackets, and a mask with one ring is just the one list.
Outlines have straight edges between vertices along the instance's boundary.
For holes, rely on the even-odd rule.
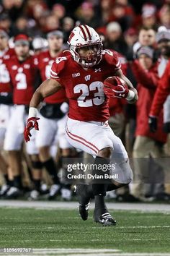
[[48,161],[45,161],[42,164],[48,171],[48,174],[50,174],[51,178],[53,179],[53,183],[60,184],[60,180],[57,175],[57,170],[53,158],[50,158]]

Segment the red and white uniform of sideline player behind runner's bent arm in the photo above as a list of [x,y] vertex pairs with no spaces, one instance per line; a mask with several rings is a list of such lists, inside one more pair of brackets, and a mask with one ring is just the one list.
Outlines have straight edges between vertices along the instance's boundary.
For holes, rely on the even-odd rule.
[[[40,71],[42,81],[50,78],[50,69],[55,59],[56,58],[50,56],[49,51],[42,51],[35,57],[35,64],[37,64],[37,68]],[[58,93],[45,98],[45,102],[48,104],[63,103],[66,101],[68,101],[68,99],[66,98],[64,88]],[[57,145],[56,142],[59,143],[60,148],[71,148],[65,134],[66,115],[61,119],[47,119],[40,115],[39,127],[40,131],[37,132],[36,135],[36,145],[38,148]],[[53,153],[55,153],[55,150]]]

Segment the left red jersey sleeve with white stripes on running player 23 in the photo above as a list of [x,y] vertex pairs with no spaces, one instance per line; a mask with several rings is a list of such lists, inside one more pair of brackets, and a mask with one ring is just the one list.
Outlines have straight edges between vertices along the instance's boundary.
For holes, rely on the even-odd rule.
[[62,72],[66,64],[66,56],[62,56],[57,58],[50,69],[50,78],[61,82],[62,80]]

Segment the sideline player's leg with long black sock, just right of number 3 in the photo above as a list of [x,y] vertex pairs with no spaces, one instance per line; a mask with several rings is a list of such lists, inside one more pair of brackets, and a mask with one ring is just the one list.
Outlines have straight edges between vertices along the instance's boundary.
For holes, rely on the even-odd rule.
[[61,182],[58,178],[58,168],[50,153],[50,147],[55,140],[55,134],[58,126],[56,119],[46,119],[40,116],[39,121],[40,131],[36,135],[36,145],[39,149],[40,161],[42,166],[45,167],[48,174],[53,181],[53,185],[50,187],[49,200],[55,198],[61,189]]

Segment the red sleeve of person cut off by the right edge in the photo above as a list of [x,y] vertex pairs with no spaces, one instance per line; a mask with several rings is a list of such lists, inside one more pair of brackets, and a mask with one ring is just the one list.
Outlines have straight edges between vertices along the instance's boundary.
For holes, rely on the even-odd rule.
[[156,93],[153,98],[153,103],[151,106],[151,111],[150,115],[151,116],[158,116],[164,102],[166,101],[166,98],[168,97],[170,93],[170,75],[169,75],[169,70],[170,70],[170,61],[166,66],[166,70],[161,77],[161,79],[158,82],[158,88],[156,90]]

